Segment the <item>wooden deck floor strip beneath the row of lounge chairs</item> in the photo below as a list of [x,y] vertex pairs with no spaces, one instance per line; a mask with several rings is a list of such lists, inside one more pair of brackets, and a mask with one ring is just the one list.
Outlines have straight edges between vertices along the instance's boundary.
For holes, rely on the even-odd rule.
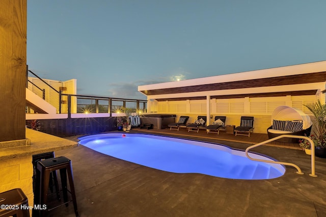
[[[162,134],[162,135],[179,135],[184,136],[188,138],[207,138],[207,139],[216,139],[221,141],[231,141],[231,142],[241,142],[241,143],[247,143],[247,144],[257,144],[263,141],[268,140],[267,134],[261,134],[261,133],[253,133],[250,134],[250,137],[248,136],[235,136],[233,134],[226,134],[225,131],[220,132],[220,134],[215,133],[207,133],[206,130],[200,129],[199,132],[188,132],[185,128],[180,128],[179,131],[176,130],[170,130],[170,129],[152,129],[152,130],[146,130],[146,129],[139,129],[136,128],[138,131],[144,131],[146,133],[154,133],[154,134]],[[135,129],[135,130],[136,130]],[[216,141],[219,142],[219,141]],[[283,147],[283,148],[291,148],[291,149],[301,149],[298,143],[285,143],[285,142],[278,142],[273,141],[270,143],[265,144],[267,146],[276,146],[276,147]]]

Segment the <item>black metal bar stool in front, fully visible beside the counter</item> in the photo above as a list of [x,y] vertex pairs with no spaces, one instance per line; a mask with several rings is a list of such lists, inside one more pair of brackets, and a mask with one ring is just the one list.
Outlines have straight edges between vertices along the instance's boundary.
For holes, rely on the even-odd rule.
[[[50,172],[55,171],[55,170],[60,170],[64,202],[56,207],[49,208],[48,203],[47,203],[48,202],[47,201],[47,196],[48,196],[47,192],[48,192],[49,178],[50,178]],[[37,163],[37,171],[36,172],[37,172],[37,181],[39,182],[39,185],[37,185],[37,186],[40,187],[39,204],[45,204],[45,205],[47,205],[47,210],[52,210],[52,209],[55,209],[64,204],[66,206],[68,206],[69,202],[73,202],[75,214],[76,214],[76,216],[79,216],[78,210],[77,210],[75,187],[74,187],[74,183],[73,183],[71,161],[66,157],[57,157],[57,158],[46,159],[44,161],[39,161]],[[68,174],[70,191],[67,190],[67,174]],[[68,201],[67,192],[69,192],[71,194],[72,200],[70,200],[70,201]],[[45,216],[45,211],[47,211],[47,210],[40,210],[41,216]]]

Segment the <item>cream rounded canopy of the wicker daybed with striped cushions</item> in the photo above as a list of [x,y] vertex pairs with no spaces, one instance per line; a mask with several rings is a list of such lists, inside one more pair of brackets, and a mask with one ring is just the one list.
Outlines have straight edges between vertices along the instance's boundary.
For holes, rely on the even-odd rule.
[[312,121],[308,114],[302,110],[289,106],[279,106],[271,114],[271,125],[273,120],[303,120],[303,129],[307,129],[312,125]]

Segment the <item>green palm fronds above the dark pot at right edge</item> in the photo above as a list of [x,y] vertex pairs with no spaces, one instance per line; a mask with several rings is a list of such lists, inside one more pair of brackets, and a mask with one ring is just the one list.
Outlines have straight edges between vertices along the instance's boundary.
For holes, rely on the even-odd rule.
[[321,104],[318,100],[306,106],[316,118],[314,134],[318,141],[318,146],[326,147],[326,104]]

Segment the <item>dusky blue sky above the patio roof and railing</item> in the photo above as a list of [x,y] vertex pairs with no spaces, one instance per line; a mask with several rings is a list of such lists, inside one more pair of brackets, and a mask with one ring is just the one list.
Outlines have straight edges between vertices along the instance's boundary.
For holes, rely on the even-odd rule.
[[28,1],[27,63],[77,94],[326,60],[324,0]]

